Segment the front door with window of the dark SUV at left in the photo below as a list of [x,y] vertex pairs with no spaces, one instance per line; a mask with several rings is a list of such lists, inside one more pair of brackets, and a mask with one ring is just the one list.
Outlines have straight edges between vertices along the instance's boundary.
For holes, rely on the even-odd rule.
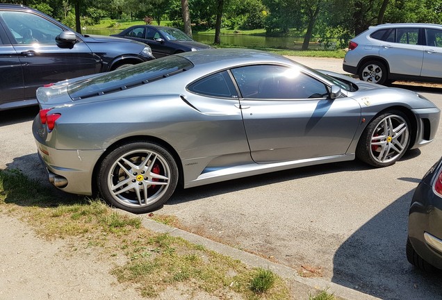
[[94,74],[101,69],[99,56],[80,39],[70,47],[59,47],[56,36],[64,28],[42,15],[8,10],[0,12],[0,22],[22,65],[24,99],[35,98],[35,90],[44,84]]

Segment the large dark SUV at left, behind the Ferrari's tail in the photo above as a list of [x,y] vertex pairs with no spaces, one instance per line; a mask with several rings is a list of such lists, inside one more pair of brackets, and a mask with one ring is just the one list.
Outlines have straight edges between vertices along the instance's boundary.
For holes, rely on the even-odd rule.
[[37,104],[44,84],[152,59],[146,44],[81,35],[38,10],[0,4],[0,110]]

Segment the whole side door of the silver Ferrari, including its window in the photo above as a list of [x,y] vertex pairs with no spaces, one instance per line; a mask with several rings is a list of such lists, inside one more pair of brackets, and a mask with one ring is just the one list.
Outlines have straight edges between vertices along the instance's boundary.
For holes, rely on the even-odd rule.
[[327,86],[308,74],[279,65],[231,70],[253,160],[277,163],[342,155],[361,116],[357,101],[327,99]]

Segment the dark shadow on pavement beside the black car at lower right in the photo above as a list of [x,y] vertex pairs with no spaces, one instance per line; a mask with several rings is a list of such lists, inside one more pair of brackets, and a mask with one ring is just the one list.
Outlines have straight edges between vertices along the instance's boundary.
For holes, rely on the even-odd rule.
[[381,299],[440,299],[442,272],[420,272],[405,254],[413,193],[395,200],[341,244],[334,254],[332,282]]

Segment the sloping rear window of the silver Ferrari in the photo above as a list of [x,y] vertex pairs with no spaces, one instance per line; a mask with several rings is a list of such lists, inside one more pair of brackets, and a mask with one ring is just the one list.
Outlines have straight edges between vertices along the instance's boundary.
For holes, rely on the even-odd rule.
[[193,64],[181,56],[167,56],[124,69],[75,81],[67,92],[73,100],[126,90],[191,69]]

